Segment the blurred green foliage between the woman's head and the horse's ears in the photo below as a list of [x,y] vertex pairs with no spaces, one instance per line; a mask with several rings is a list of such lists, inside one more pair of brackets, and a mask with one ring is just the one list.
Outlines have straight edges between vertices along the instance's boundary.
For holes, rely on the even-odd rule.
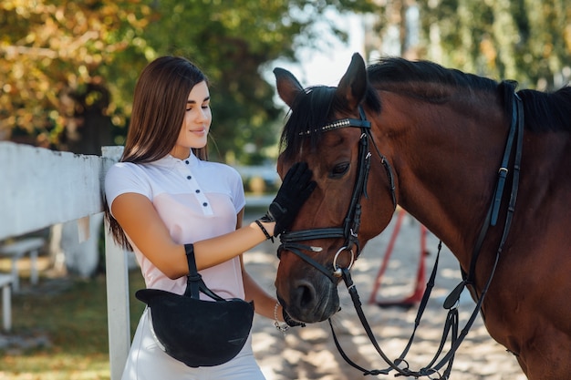
[[[370,9],[348,1],[161,0],[158,18],[142,35],[155,56],[182,55],[208,75],[212,87],[211,159],[260,164],[260,151],[275,144],[281,108],[262,68],[278,57],[295,59],[297,46],[319,38],[313,25],[327,7]],[[368,8],[369,7],[369,8]],[[339,38],[344,36],[329,24]],[[303,36],[304,38],[301,38]],[[251,149],[244,149],[251,147]]]

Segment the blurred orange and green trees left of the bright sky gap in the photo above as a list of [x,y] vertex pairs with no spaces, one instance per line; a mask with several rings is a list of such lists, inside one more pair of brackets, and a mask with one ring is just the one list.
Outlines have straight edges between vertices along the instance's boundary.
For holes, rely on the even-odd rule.
[[[156,56],[183,55],[212,82],[211,152],[221,160],[260,159],[242,148],[275,142],[272,122],[280,113],[261,67],[278,57],[295,60],[297,46],[311,46],[320,38],[314,21],[328,8],[366,12],[372,3],[4,0],[0,131],[67,149],[74,138],[69,131],[80,132],[85,116],[99,112],[112,120],[120,143],[142,67]],[[329,27],[346,37],[332,22]]]

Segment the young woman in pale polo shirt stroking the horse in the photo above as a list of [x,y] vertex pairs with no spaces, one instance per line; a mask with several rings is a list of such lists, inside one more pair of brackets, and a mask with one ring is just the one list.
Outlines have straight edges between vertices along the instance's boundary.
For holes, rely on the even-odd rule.
[[[223,298],[254,301],[268,318],[283,311],[244,270],[242,253],[285,231],[315,182],[306,165],[285,176],[265,218],[242,226],[244,189],[233,168],[206,160],[212,122],[208,80],[182,57],[162,56],[140,74],[123,156],[106,177],[116,241],[135,252],[148,288],[184,293],[192,243],[206,285]],[[223,365],[192,368],[161,351],[148,308],[140,317],[123,379],[263,379],[251,337]]]

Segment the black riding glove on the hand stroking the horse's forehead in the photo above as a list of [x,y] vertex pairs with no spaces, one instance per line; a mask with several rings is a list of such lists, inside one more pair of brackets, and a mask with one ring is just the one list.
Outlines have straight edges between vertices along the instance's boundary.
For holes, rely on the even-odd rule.
[[261,221],[275,221],[274,236],[289,230],[301,206],[306,202],[317,183],[311,180],[312,172],[306,162],[297,162],[285,174],[268,211]]

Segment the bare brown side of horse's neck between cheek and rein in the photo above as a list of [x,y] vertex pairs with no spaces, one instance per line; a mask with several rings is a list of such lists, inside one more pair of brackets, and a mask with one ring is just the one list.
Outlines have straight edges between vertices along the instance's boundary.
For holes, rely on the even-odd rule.
[[[507,128],[497,107],[459,113],[451,104],[409,108],[395,134],[400,205],[467,261],[493,197]],[[397,159],[398,158],[398,159]],[[463,259],[463,260],[462,260]]]

